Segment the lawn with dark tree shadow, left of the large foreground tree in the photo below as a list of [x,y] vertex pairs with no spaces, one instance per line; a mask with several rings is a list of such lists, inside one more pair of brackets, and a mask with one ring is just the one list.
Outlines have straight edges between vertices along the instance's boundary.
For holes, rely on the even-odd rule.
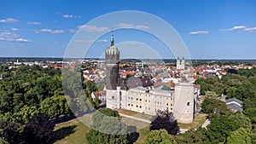
[[85,143],[85,134],[90,130],[78,118],[56,124],[54,133],[55,144],[81,144]]

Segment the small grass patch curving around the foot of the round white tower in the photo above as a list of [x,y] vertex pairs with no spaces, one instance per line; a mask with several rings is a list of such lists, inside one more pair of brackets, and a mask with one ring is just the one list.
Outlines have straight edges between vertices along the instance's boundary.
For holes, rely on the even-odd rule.
[[193,123],[191,124],[182,124],[182,123],[177,123],[179,128],[181,129],[197,129],[199,128],[202,124],[204,124],[207,120],[207,114],[205,113],[196,113],[195,114],[195,119]]

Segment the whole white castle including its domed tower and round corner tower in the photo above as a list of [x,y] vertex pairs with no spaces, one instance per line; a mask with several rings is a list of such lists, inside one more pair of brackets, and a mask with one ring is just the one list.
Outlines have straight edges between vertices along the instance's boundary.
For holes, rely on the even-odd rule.
[[[119,49],[114,46],[113,33],[111,45],[105,51],[106,59],[106,104],[111,109],[127,109],[155,115],[168,110],[180,123],[192,123],[199,89],[193,84],[180,83],[175,90],[154,89],[149,78],[119,79]],[[184,66],[184,60],[182,61]],[[184,67],[179,67],[184,69]]]

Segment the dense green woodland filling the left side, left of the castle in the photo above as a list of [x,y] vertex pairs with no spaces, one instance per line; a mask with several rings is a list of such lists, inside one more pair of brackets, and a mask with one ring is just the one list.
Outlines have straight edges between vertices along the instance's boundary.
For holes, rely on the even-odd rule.
[[[63,71],[69,77],[62,87]],[[101,101],[90,96],[97,90],[96,84],[84,83],[79,68],[77,72],[63,71],[41,66],[0,66],[0,143],[51,143],[59,118],[99,107]]]

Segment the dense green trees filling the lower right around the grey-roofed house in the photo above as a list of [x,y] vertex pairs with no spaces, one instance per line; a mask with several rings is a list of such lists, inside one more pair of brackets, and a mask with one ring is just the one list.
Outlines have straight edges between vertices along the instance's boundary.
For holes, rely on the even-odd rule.
[[[256,143],[256,69],[238,70],[223,78],[200,78],[201,93],[206,95],[202,112],[209,114],[207,129],[189,130],[177,136],[178,143]],[[243,112],[230,112],[220,95],[243,102]]]

